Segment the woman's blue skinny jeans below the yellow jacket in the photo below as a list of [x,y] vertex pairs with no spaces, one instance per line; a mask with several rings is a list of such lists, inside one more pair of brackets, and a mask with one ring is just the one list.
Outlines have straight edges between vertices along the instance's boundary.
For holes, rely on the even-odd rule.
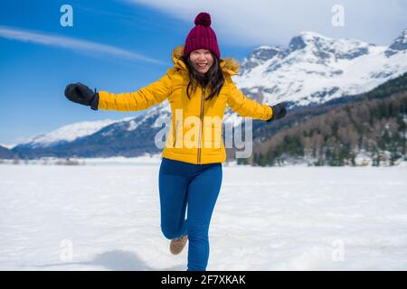
[[188,235],[188,271],[204,271],[208,264],[209,223],[221,184],[222,163],[193,164],[162,159],[161,230],[168,239]]

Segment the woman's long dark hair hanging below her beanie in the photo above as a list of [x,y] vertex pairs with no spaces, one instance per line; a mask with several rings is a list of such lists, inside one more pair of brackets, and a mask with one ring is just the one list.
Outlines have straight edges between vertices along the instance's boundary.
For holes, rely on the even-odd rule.
[[194,69],[194,66],[191,63],[189,57],[187,57],[186,59],[184,57],[181,57],[181,60],[185,62],[185,65],[188,68],[189,82],[188,86],[186,87],[186,96],[189,99],[191,99],[191,95],[194,93],[198,85],[203,88],[211,89],[211,93],[209,97],[206,98],[206,100],[211,100],[215,96],[218,96],[221,92],[224,83],[224,77],[220,66],[220,61],[219,58],[215,54],[213,54],[212,51],[211,54],[213,57],[213,64],[208,72],[206,72],[204,75],[198,73]]

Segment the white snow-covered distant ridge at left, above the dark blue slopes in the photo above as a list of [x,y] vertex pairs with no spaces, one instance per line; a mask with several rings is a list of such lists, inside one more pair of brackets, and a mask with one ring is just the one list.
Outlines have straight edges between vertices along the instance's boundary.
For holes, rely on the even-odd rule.
[[92,135],[105,126],[109,126],[122,121],[129,121],[131,119],[134,119],[134,117],[126,117],[119,120],[105,119],[98,121],[83,121],[79,123],[74,123],[71,125],[62,126],[48,134],[37,135],[28,138],[19,145],[37,148],[37,147],[48,147],[62,143],[71,143],[80,137]]

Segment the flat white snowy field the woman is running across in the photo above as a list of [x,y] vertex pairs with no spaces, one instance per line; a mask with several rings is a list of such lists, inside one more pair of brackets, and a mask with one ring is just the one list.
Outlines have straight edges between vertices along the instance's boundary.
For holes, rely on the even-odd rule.
[[[0,164],[0,270],[185,270],[159,163]],[[407,167],[224,166],[208,270],[407,270]]]

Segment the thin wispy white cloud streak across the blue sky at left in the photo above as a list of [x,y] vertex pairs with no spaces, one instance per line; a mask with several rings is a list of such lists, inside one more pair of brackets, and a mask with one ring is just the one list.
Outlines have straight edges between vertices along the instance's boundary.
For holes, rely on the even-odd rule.
[[147,61],[159,65],[167,64],[164,61],[158,61],[147,56],[111,45],[106,45],[98,42],[89,42],[66,36],[27,31],[14,27],[0,26],[0,37],[20,42],[33,42],[48,46],[61,47],[72,51],[81,51],[87,53],[91,52],[92,55],[95,55],[96,53],[99,55],[108,55],[130,61]]

